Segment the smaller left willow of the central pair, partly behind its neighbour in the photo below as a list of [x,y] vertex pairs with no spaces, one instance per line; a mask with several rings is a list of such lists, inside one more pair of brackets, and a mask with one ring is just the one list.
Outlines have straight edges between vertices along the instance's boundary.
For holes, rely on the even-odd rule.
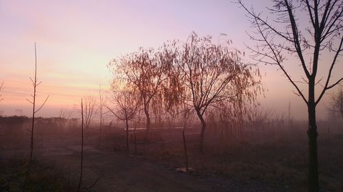
[[126,81],[130,89],[138,93],[145,113],[146,129],[151,126],[151,107],[161,102],[158,94],[162,94],[165,69],[167,63],[156,57],[153,49],[139,49],[137,52],[123,55],[108,65],[113,68],[114,81]]

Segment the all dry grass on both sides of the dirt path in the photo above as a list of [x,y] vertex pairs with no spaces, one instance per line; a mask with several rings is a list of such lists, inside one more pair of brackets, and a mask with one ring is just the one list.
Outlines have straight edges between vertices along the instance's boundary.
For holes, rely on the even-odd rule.
[[[321,191],[343,191],[343,130],[342,128],[331,128],[331,133],[327,133],[327,126],[319,124],[318,131]],[[108,133],[104,132],[102,143],[99,143],[98,131],[95,129],[86,132],[85,139],[88,145],[96,146],[99,150],[115,150],[124,154],[134,154],[132,140],[130,151],[125,151],[125,135],[123,133],[124,131],[119,129]],[[276,126],[274,130],[270,126],[264,129],[255,128],[254,130],[246,128],[239,139],[235,139],[228,133],[224,133],[221,137],[218,133],[220,131],[211,130],[211,127],[207,129],[205,152],[200,154],[198,152],[199,135],[197,135],[197,130],[187,131],[189,166],[194,169],[190,174],[219,177],[228,181],[259,182],[267,184],[272,189],[280,189],[276,191],[307,190],[305,124],[294,125],[290,128]],[[75,139],[78,138],[78,133],[75,132],[36,137],[37,145],[45,143],[46,139],[53,139],[57,142],[66,135],[72,139],[72,142],[78,143],[78,139]],[[138,135],[137,138],[143,137]],[[152,134],[150,139],[150,142],[143,142],[138,139],[140,142],[137,144],[137,158],[164,165],[170,169],[185,167],[181,131],[157,131]],[[2,144],[5,147],[10,142],[6,143],[3,140]],[[17,147],[23,148],[23,146],[20,144]],[[23,162],[3,162],[5,161],[1,161],[0,164],[0,186],[10,186],[13,191],[16,191],[18,187],[22,186],[20,173]],[[64,190],[63,187],[71,186],[68,178],[54,172],[53,166],[44,165],[35,169],[36,171],[33,173],[36,174],[32,176],[32,185],[29,185],[31,186],[28,188],[29,190],[44,191],[47,190],[44,186],[49,186],[49,184],[56,184],[55,189],[57,191],[59,189]],[[42,186],[40,186],[41,184]],[[42,188],[35,188],[34,186]]]

